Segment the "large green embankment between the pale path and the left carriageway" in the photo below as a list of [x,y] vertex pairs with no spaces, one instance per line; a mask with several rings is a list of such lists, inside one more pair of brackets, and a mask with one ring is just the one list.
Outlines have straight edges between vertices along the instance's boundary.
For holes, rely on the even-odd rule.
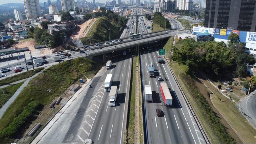
[[[100,62],[95,63],[92,59],[78,57],[44,70],[43,73],[32,79],[32,85],[25,87],[15,101],[8,107],[3,117],[0,119],[0,131],[6,128],[15,117],[21,114],[24,110],[23,108],[27,106],[29,102],[35,100],[38,101],[40,105],[43,105],[43,107],[48,106],[50,104],[50,95],[49,92],[47,92],[48,89],[52,89],[52,99],[57,98],[73,83],[79,83],[79,79],[83,77],[82,72],[86,72],[88,78],[92,78],[93,74],[95,75],[102,65],[103,64],[100,64]],[[41,110],[42,107],[38,110],[38,113],[40,113]],[[38,115],[33,117],[38,117]],[[34,119],[35,118],[29,119],[29,121],[26,122],[27,125],[23,125],[20,128],[20,133],[24,133]],[[16,135],[10,137],[10,139],[16,138]],[[0,139],[0,141],[3,139],[5,138]]]

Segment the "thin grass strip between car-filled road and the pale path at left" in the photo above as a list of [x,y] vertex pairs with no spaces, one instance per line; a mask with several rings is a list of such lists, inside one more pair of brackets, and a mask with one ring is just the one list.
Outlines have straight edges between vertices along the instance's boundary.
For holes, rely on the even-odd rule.
[[38,69],[34,69],[34,70],[29,70],[27,72],[23,72],[23,73],[20,73],[20,74],[11,76],[11,77],[7,77],[5,79],[0,80],[0,86],[7,85],[9,83],[12,83],[12,82],[15,82],[18,80],[22,80],[25,78],[29,78],[29,77],[35,75],[36,73],[40,72],[43,69],[44,68],[38,68]]

